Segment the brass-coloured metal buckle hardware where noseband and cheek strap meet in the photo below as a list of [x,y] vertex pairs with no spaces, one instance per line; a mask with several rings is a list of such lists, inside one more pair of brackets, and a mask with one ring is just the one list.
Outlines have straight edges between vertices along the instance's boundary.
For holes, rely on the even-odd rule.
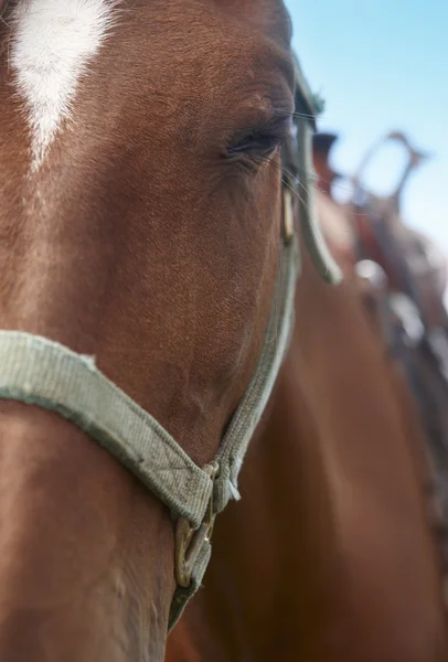
[[[211,462],[203,469],[209,473],[212,481],[215,480],[220,466],[217,462]],[[213,508],[213,489],[209,505],[199,528],[194,530],[184,517],[180,517],[175,524],[175,552],[174,552],[174,575],[178,586],[188,588],[191,583],[194,566],[204,542],[210,542],[213,533],[216,513]]]

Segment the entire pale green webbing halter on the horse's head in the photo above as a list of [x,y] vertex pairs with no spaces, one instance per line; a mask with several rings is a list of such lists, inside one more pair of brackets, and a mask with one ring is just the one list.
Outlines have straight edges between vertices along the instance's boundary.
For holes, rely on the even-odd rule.
[[[300,70],[297,88],[299,149],[295,157],[300,179],[300,224],[318,270],[326,280],[337,282],[339,268],[313,221],[310,179],[314,110]],[[0,331],[0,398],[38,405],[71,420],[170,509],[175,526],[177,580],[170,629],[201,585],[211,555],[210,538],[216,514],[231,499],[238,499],[239,469],[288,348],[300,264],[291,191],[296,185],[297,179],[288,170],[280,267],[262,354],[218,453],[205,467],[198,467],[149,413],[96,367],[92,357],[46,338]]]

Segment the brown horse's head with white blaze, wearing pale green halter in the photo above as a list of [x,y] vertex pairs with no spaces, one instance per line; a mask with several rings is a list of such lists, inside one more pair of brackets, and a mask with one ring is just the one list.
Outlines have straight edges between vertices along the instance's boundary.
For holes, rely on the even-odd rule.
[[157,662],[288,338],[290,21],[6,4],[0,659]]

